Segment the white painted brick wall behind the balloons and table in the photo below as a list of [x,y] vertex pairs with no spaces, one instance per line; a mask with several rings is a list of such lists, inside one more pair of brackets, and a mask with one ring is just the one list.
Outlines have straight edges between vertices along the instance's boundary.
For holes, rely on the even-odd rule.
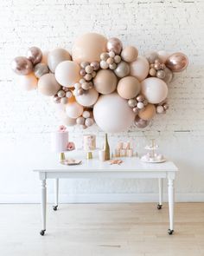
[[[132,128],[110,141],[114,145],[118,138],[131,137],[142,152],[146,142],[156,138],[163,154],[180,168],[177,200],[204,200],[203,12],[204,2],[199,0],[1,0],[0,201],[38,201],[40,184],[31,170],[54,157],[48,149],[49,132],[60,124],[48,98],[23,92],[14,82],[11,59],[33,45],[71,49],[74,39],[87,31],[118,36],[142,54],[167,49],[188,55],[188,69],[175,75],[169,87],[168,114],[156,117],[143,131]],[[98,128],[91,130],[103,135]],[[73,140],[80,134],[72,130]],[[156,181],[61,182],[64,201],[156,200],[156,188]]]

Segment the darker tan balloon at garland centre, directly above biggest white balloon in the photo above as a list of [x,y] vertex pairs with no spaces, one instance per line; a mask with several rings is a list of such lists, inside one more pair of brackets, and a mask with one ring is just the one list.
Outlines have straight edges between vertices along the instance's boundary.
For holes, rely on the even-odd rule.
[[109,69],[100,69],[93,79],[94,88],[102,95],[111,94],[117,87],[117,76]]

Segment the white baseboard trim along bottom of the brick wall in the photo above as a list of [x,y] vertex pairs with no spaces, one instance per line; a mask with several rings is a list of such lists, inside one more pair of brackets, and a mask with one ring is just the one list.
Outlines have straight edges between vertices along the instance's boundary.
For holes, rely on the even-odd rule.
[[[53,203],[54,195],[48,194]],[[157,202],[158,194],[60,194],[61,203],[133,203]],[[39,194],[0,194],[0,203],[40,203]],[[163,201],[168,201],[163,194]],[[176,202],[204,202],[204,194],[175,194]]]

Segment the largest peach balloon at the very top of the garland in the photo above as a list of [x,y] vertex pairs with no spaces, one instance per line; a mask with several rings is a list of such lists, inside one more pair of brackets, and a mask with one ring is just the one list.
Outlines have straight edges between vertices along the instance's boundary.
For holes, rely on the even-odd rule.
[[107,51],[107,39],[97,33],[87,33],[80,36],[73,44],[72,56],[74,62],[99,62],[100,54]]

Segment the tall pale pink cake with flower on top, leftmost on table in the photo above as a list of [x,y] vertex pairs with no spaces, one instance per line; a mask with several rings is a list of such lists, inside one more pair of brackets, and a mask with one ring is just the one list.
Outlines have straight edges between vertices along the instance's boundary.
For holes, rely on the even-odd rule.
[[60,127],[59,130],[51,135],[52,151],[63,152],[67,150],[68,131],[66,127]]

